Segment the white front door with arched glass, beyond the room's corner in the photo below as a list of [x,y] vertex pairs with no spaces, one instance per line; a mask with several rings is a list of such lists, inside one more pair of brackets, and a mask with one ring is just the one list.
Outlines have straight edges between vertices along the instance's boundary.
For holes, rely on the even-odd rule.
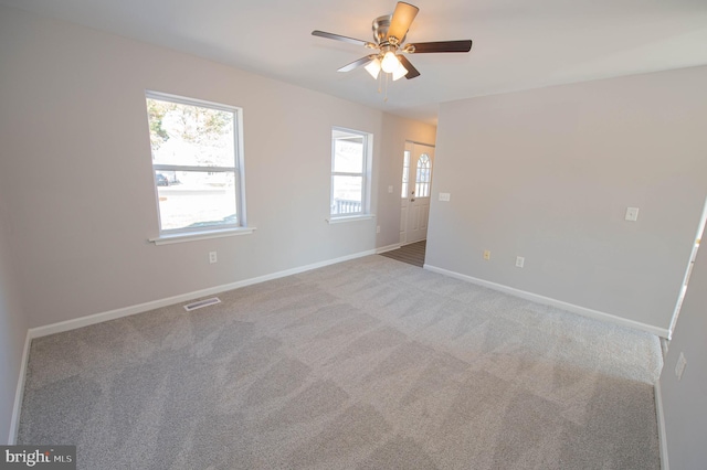
[[434,147],[405,142],[400,194],[400,244],[428,238]]

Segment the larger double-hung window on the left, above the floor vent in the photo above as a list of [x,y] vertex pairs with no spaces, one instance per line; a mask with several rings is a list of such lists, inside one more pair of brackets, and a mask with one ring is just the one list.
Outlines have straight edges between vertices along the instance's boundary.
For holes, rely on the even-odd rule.
[[245,225],[240,108],[147,92],[160,236]]

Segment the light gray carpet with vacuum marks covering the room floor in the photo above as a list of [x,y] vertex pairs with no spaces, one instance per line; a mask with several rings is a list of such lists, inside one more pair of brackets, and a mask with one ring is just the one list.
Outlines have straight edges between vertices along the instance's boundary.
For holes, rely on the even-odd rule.
[[658,469],[657,338],[381,256],[32,342],[80,469]]

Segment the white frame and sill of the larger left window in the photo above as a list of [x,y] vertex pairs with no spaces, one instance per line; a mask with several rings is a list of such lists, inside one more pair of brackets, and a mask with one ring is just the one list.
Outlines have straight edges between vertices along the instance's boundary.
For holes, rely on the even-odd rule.
[[[146,99],[158,99],[161,102],[177,103],[187,106],[199,106],[204,108],[218,109],[233,114],[233,138],[234,138],[234,156],[233,167],[201,167],[201,165],[179,165],[179,164],[161,164],[154,163],[151,165],[152,179],[155,180],[155,203],[157,204],[158,231],[159,236],[150,238],[156,245],[171,244],[179,242],[189,242],[194,239],[218,238],[231,235],[251,234],[254,227],[247,227],[245,215],[245,175],[244,175],[244,152],[243,152],[243,109],[223,105],[220,103],[207,102],[203,99],[188,98],[184,96],[171,95],[161,92],[146,90]],[[149,125],[149,121],[148,121]],[[151,151],[150,151],[151,157]],[[151,160],[151,158],[150,158]],[[182,227],[162,229],[161,213],[159,207],[159,194],[156,181],[157,171],[210,171],[210,172],[233,172],[235,179],[235,211],[238,222],[233,224],[222,224],[214,226]]]

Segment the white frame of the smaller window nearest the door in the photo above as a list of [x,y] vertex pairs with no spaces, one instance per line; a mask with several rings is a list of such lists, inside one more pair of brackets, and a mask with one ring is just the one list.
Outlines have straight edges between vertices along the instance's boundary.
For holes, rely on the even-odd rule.
[[[350,133],[363,139],[363,168],[361,172],[341,172],[335,171],[336,159],[336,140],[337,133]],[[370,211],[370,188],[371,188],[371,161],[373,154],[373,135],[362,130],[349,129],[345,127],[334,126],[331,128],[331,177],[329,179],[329,218],[327,222],[330,224],[338,222],[346,222],[351,220],[366,220],[372,218],[373,215]],[[334,209],[334,177],[361,177],[361,209],[357,212],[349,212],[344,214],[333,214]]]

